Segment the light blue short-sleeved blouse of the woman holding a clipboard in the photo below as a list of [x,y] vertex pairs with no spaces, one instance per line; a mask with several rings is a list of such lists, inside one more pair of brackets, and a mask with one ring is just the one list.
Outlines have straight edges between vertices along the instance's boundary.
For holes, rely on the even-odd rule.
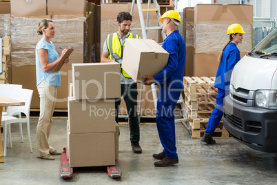
[[56,61],[59,59],[59,54],[55,49],[54,44],[52,41],[48,43],[44,39],[41,39],[39,43],[37,43],[37,48],[36,48],[36,74],[37,74],[37,86],[41,84],[41,81],[45,80],[50,84],[51,86],[60,86],[61,85],[61,73],[57,72],[52,74],[52,70],[49,70],[48,72],[44,72],[43,69],[41,68],[41,63],[39,61],[39,52],[38,50],[40,49],[45,49],[47,50],[47,55],[48,55],[48,64],[52,63],[53,61]]

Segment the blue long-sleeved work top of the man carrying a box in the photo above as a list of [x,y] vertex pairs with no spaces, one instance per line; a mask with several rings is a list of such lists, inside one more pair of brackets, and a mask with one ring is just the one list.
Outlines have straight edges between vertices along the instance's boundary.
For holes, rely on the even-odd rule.
[[178,30],[170,33],[163,42],[163,48],[170,53],[167,65],[154,76],[159,84],[166,86],[183,87],[185,69],[185,41]]

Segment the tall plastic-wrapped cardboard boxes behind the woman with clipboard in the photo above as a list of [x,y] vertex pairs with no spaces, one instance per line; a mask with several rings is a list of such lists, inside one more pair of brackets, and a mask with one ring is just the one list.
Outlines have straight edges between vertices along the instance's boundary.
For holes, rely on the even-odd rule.
[[[34,110],[39,108],[34,52],[41,39],[41,35],[37,35],[39,21],[52,19],[57,32],[51,40],[57,52],[61,54],[58,47],[74,47],[74,52],[70,55],[70,64],[83,63],[85,0],[11,0],[9,3],[12,15],[10,19],[12,22],[12,67],[9,73],[12,81],[10,83],[22,84],[23,88],[34,90],[31,104],[31,108]],[[65,64],[61,68],[61,86],[58,87],[57,98],[64,101],[57,102],[55,109],[67,108],[70,64]]]

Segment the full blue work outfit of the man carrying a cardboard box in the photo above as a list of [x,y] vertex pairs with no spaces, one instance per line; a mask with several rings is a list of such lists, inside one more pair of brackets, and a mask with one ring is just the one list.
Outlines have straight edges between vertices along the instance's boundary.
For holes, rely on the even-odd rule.
[[156,125],[165,157],[178,158],[176,153],[174,109],[183,88],[185,41],[175,30],[167,36],[163,48],[170,53],[167,66],[154,76],[158,81]]

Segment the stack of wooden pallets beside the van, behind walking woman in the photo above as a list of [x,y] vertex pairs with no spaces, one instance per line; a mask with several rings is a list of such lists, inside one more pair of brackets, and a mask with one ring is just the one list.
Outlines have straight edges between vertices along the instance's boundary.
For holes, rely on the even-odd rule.
[[[185,107],[192,126],[192,138],[203,137],[212,110],[216,108],[214,80],[215,77],[184,77]],[[218,124],[213,137],[229,138],[223,121]]]

